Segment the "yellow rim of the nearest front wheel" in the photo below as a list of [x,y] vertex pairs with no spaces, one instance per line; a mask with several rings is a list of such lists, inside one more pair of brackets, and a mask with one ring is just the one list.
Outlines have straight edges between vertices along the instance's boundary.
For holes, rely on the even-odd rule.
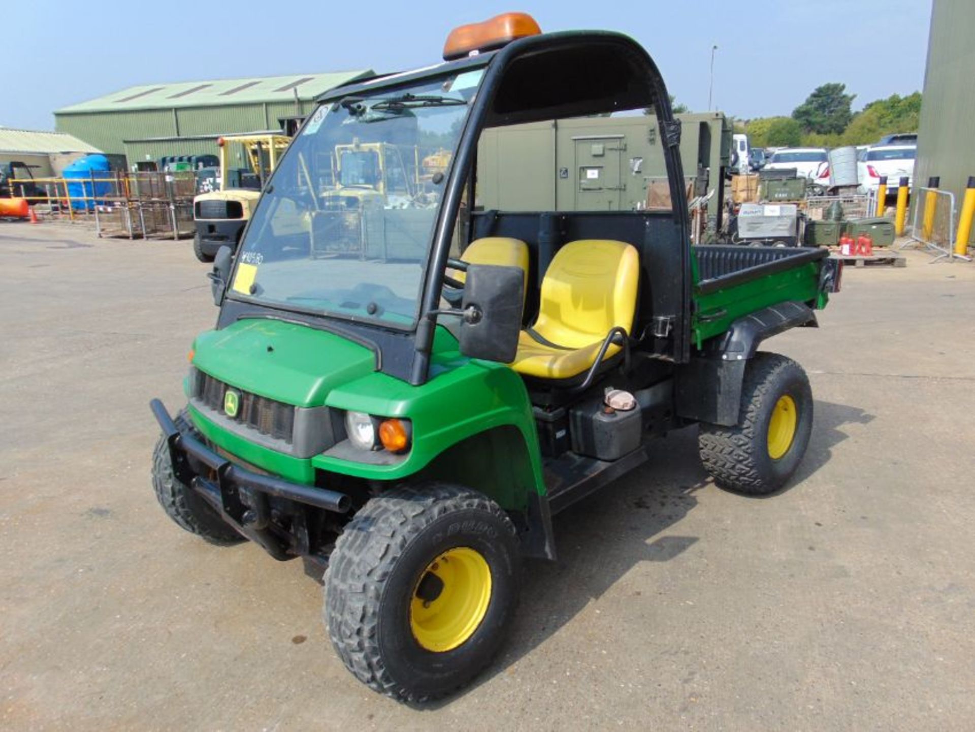
[[479,552],[443,552],[420,574],[409,601],[409,629],[423,648],[443,653],[478,630],[487,615],[491,577]]

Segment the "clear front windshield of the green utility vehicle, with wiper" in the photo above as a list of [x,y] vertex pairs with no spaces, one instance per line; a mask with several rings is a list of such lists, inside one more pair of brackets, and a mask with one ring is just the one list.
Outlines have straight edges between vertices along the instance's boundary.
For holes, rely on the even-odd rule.
[[444,176],[483,73],[320,106],[257,204],[230,296],[412,327]]

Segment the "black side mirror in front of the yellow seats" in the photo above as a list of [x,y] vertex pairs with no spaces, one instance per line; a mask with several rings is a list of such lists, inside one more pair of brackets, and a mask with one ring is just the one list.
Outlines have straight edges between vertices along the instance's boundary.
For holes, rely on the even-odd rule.
[[467,267],[460,323],[460,352],[472,359],[510,364],[518,351],[525,298],[521,267]]

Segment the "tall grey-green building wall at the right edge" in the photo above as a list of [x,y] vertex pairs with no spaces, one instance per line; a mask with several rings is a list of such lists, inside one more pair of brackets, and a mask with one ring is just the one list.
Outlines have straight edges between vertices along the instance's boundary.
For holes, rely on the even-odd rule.
[[[932,175],[952,191],[961,207],[965,184],[975,175],[975,2],[934,0],[927,44],[920,130],[917,135],[915,186]],[[969,241],[969,245],[975,241]]]

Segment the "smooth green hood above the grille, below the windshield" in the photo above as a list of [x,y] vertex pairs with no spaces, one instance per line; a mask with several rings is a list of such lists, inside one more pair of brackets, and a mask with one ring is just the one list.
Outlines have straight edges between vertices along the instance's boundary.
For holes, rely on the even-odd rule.
[[295,406],[319,406],[329,392],[375,370],[372,352],[315,328],[238,321],[194,343],[193,366],[227,384]]

